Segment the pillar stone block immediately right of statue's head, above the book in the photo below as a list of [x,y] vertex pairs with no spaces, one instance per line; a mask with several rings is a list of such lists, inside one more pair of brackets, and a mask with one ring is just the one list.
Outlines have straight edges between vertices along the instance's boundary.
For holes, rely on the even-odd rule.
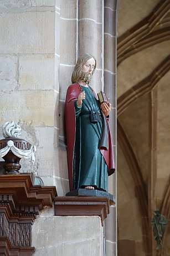
[[107,97],[109,97],[112,107],[116,107],[116,75],[105,70],[105,92]]

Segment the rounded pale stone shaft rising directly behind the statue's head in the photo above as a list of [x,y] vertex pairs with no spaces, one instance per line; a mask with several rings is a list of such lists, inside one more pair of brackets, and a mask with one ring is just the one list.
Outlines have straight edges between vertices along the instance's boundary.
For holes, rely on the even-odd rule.
[[91,53],[96,57],[97,68],[92,77],[91,86],[99,92],[103,81],[103,24],[104,1],[81,0],[79,1],[79,50],[80,55]]

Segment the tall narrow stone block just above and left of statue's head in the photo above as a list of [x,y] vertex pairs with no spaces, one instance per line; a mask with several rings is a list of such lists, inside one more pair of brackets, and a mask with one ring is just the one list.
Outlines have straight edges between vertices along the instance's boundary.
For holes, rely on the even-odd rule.
[[60,63],[65,65],[75,65],[76,57],[76,20],[61,19],[60,25]]

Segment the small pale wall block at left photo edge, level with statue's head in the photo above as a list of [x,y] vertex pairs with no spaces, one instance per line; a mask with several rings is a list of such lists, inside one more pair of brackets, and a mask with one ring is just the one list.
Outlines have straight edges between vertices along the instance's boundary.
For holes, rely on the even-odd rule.
[[0,91],[13,91],[18,86],[18,58],[14,55],[0,56]]

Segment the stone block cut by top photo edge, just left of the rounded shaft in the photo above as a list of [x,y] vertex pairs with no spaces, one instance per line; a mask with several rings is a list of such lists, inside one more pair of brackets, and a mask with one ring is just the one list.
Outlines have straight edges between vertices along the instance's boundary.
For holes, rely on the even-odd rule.
[[[61,17],[66,19],[76,18],[76,0],[62,0],[61,1]],[[74,35],[75,36],[75,35]]]

